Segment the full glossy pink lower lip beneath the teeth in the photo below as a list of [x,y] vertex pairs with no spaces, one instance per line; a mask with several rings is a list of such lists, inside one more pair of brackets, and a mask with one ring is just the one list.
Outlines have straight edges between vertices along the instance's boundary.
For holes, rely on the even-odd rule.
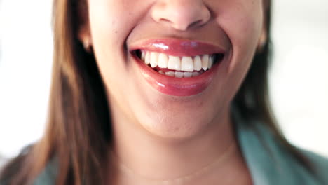
[[160,74],[144,64],[139,57],[135,55],[133,55],[133,57],[137,61],[142,76],[146,79],[149,85],[158,90],[160,93],[179,97],[187,97],[202,93],[212,82],[214,74],[219,68],[219,64],[222,62],[221,61],[218,64],[214,64],[210,70],[200,74],[200,76],[191,78],[175,78]]

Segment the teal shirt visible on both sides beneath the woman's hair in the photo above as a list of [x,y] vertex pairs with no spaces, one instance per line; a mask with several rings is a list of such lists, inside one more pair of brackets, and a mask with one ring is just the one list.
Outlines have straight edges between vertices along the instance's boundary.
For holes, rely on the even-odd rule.
[[[249,128],[235,114],[235,130],[242,154],[255,185],[328,185],[328,159],[300,150],[311,163],[316,175],[308,172],[291,156],[270,129],[257,123]],[[54,164],[49,164],[34,185],[55,185]]]

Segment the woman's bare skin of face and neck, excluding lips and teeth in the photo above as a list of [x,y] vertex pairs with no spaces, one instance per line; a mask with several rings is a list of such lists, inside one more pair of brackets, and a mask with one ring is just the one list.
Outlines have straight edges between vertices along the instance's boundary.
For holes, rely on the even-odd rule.
[[[86,12],[78,36],[93,46],[113,118],[108,182],[175,184],[191,174],[181,184],[251,184],[229,109],[265,37],[263,2],[89,0]],[[228,51],[227,60],[202,93],[165,95],[146,83],[128,52],[130,44],[154,38],[212,43]],[[219,158],[224,160],[211,165]]]

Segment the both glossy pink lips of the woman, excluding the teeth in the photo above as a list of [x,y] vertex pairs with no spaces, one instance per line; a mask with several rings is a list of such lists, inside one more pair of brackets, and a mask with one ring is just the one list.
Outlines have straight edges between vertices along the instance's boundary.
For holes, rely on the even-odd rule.
[[[200,76],[191,78],[175,78],[159,74],[135,55],[135,50],[150,50],[158,53],[175,56],[196,56],[212,53],[222,53],[224,50],[212,46],[208,43],[199,41],[188,41],[178,39],[153,39],[139,42],[130,47],[132,56],[135,58],[137,65],[146,81],[161,93],[172,96],[191,96],[203,92],[214,78],[214,74],[219,68],[219,63],[205,71]],[[224,60],[224,59],[223,59]]]

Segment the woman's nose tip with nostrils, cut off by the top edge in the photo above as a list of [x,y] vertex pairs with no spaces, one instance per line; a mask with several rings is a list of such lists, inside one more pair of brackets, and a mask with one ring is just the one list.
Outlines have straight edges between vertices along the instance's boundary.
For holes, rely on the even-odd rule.
[[210,20],[210,10],[202,0],[163,0],[153,6],[151,16],[160,24],[186,31],[205,25]]

